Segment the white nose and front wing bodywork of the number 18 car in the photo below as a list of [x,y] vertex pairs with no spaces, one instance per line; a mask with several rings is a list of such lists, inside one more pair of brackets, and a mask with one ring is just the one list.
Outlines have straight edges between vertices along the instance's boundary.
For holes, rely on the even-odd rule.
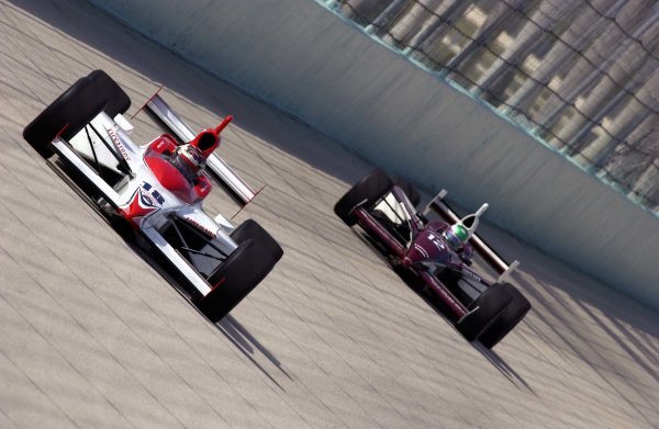
[[[205,296],[211,292],[212,285],[177,249],[167,242],[159,229],[171,222],[172,216],[176,216],[201,230],[205,236],[211,237],[211,242],[228,256],[237,248],[237,244],[230,236],[234,226],[222,215],[217,215],[215,218],[209,216],[202,210],[202,201],[193,204],[185,203],[163,187],[144,162],[144,154],[150,142],[145,145],[134,143],[129,136],[132,126],[123,116],[118,115],[116,118],[111,118],[108,114],[101,112],[91,121],[90,125],[96,128],[100,136],[91,126],[86,126],[68,143],[56,137],[52,142],[53,149],[91,182],[103,200],[112,207],[109,210],[114,213],[120,214],[122,207],[131,204],[136,196],[141,202],[146,202],[146,211],[149,213],[139,218],[136,227],[155,248],[180,270],[201,295]],[[101,138],[113,149],[114,154],[101,142]],[[92,142],[91,146],[90,140]],[[93,147],[93,150],[91,147]],[[122,157],[130,166],[130,174],[121,171],[116,155]],[[114,172],[125,174],[124,178],[114,187],[111,187],[91,167],[97,161]],[[224,162],[222,163],[224,165]],[[212,168],[213,165],[209,162],[209,166]],[[226,165],[224,166],[226,167]],[[228,167],[226,168],[228,169]],[[244,187],[245,184],[239,181],[234,185]]]

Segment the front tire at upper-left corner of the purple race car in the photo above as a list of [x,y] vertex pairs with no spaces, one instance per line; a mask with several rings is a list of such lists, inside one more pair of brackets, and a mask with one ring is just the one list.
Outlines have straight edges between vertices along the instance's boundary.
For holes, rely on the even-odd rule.
[[382,170],[376,169],[368,176],[357,182],[344,196],[334,205],[334,213],[346,223],[353,226],[357,223],[357,217],[351,214],[353,208],[360,203],[365,207],[372,205],[388,192],[391,191],[393,182]]

